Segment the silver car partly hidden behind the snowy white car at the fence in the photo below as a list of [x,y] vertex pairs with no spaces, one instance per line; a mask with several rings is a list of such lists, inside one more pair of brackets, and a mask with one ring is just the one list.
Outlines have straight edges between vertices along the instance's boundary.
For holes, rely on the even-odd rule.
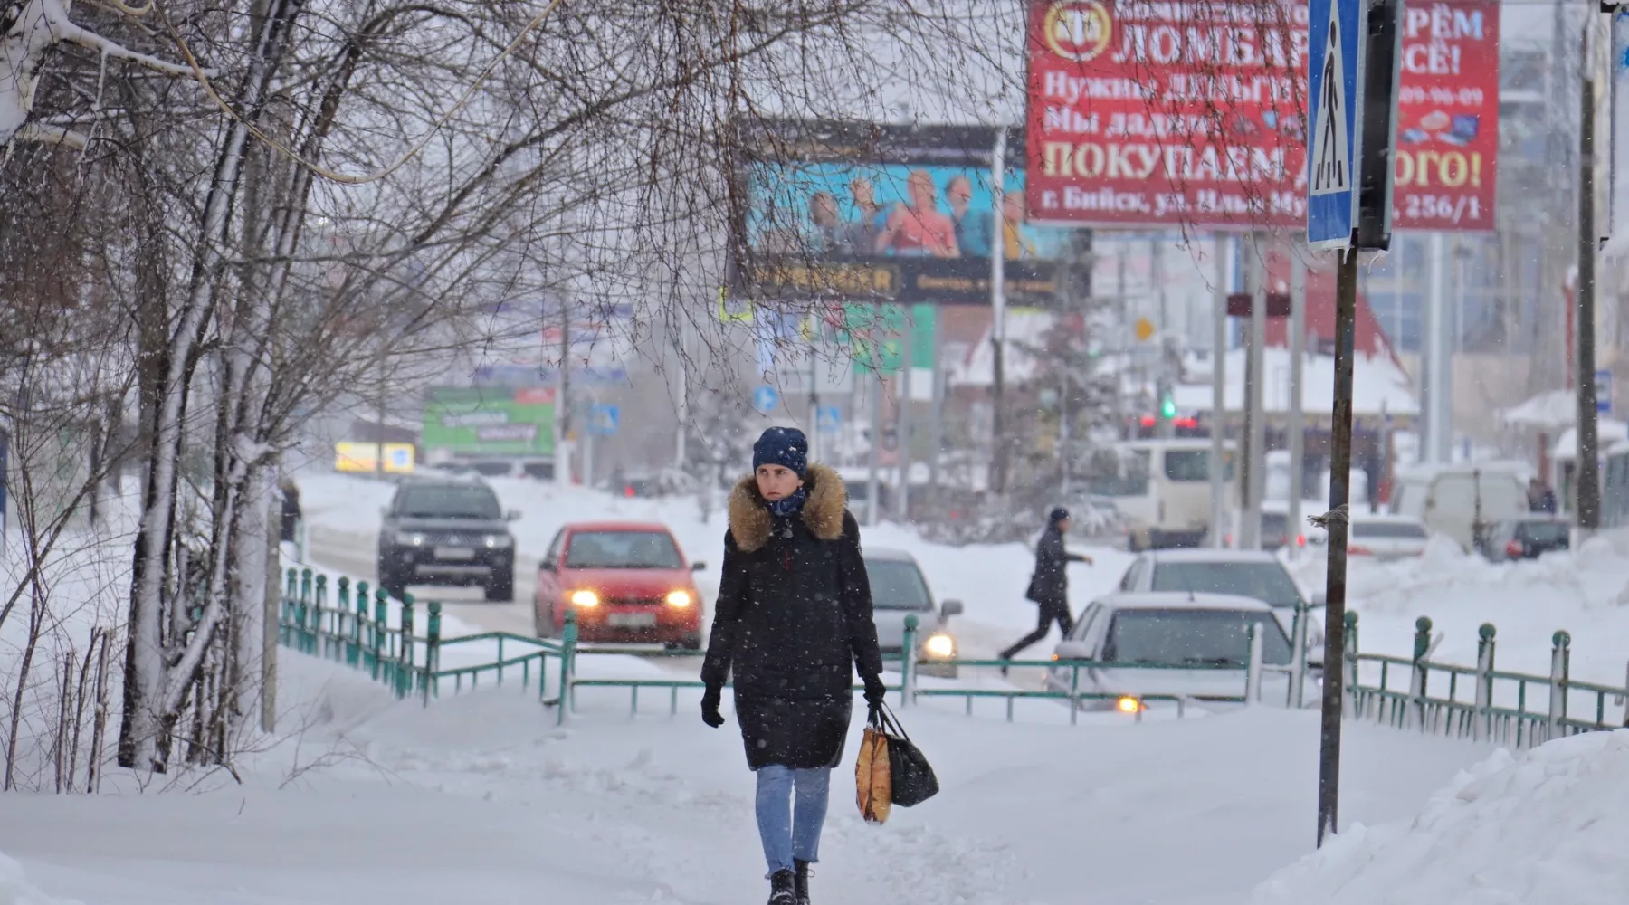
[[[1295,610],[1323,606],[1323,594],[1305,597],[1284,563],[1259,550],[1150,550],[1132,560],[1119,589],[1131,594],[1184,592],[1249,597],[1272,607],[1285,632]],[[1323,662],[1323,627],[1308,614],[1306,661]]]

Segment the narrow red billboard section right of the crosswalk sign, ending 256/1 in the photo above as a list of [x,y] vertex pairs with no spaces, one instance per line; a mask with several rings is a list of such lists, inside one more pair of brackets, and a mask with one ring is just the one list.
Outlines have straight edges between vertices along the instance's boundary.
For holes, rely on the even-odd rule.
[[1499,3],[1411,0],[1403,11],[1399,230],[1492,230],[1499,160]]

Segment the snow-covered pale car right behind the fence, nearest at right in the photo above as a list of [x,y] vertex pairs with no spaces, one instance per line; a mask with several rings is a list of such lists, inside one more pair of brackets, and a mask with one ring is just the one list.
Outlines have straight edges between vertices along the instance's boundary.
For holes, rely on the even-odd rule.
[[[1052,692],[1106,695],[1080,702],[1085,710],[1135,711],[1135,702],[1126,698],[1139,695],[1236,698],[1245,692],[1251,625],[1261,633],[1261,662],[1289,667],[1290,640],[1272,607],[1261,601],[1204,592],[1111,594],[1082,610],[1054,654],[1059,661],[1126,666],[1080,669],[1077,684],[1075,667],[1059,664],[1047,669],[1046,685]],[[1262,695],[1284,700],[1287,682],[1284,669],[1264,672]]]

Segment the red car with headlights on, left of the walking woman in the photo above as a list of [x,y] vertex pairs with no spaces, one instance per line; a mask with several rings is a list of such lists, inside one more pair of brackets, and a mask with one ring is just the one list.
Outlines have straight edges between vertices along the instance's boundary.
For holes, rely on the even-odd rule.
[[557,638],[567,610],[580,641],[700,649],[702,601],[673,534],[660,524],[582,522],[554,536],[538,570],[534,625]]

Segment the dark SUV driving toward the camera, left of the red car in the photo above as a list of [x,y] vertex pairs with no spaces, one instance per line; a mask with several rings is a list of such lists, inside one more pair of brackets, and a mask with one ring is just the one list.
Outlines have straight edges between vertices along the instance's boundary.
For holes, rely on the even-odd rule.
[[489,601],[515,597],[515,536],[498,496],[479,480],[407,479],[380,524],[380,588],[481,584]]

